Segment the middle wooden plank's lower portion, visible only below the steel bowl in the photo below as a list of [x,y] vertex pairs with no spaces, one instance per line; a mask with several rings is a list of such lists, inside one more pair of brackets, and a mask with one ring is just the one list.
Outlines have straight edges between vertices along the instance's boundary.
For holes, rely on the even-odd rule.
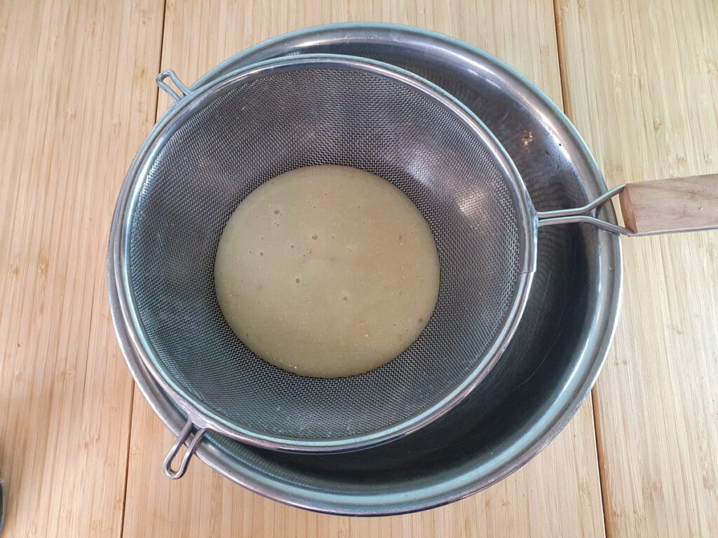
[[602,537],[592,438],[584,405],[544,452],[492,488],[404,516],[328,516],[264,499],[195,459],[170,481],[162,459],[174,436],[135,393],[125,536],[178,537]]

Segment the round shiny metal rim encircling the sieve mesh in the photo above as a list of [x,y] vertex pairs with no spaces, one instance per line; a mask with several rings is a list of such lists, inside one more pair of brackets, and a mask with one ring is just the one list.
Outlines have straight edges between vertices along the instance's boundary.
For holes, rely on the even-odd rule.
[[[518,260],[520,270],[518,271],[516,290],[513,294],[511,307],[506,314],[505,323],[495,339],[493,339],[488,351],[483,355],[482,359],[477,361],[475,367],[472,368],[460,384],[457,384],[453,390],[434,402],[433,405],[405,420],[401,420],[401,422],[362,435],[331,439],[269,435],[238,425],[236,420],[230,419],[223,413],[218,412],[218,410],[197,400],[197,397],[185,389],[177,378],[169,372],[167,367],[159,361],[157,351],[151,345],[140,321],[134,291],[131,286],[129,256],[131,223],[136,209],[136,202],[146,181],[147,172],[154,163],[157,154],[162,151],[169,138],[195,112],[201,110],[203,105],[220,97],[223,93],[234,88],[236,84],[248,82],[263,75],[290,70],[298,66],[326,68],[331,65],[337,67],[349,66],[353,69],[388,77],[393,81],[411,86],[411,88],[429,95],[446,108],[449,108],[465,127],[480,138],[485,150],[494,159],[503,177],[509,180],[507,187],[516,201],[516,221],[518,224],[519,244],[521,245],[521,255]],[[513,161],[511,161],[503,146],[482,121],[459,100],[439,88],[439,86],[408,70],[363,57],[317,54],[266,60],[230,71],[222,77],[218,77],[218,79],[192,88],[187,95],[182,96],[162,115],[137,152],[118,195],[110,233],[110,256],[114,269],[113,280],[118,294],[119,309],[116,330],[122,330],[129,336],[132,346],[151,376],[167,392],[177,407],[187,414],[188,419],[197,428],[209,428],[251,445],[274,450],[332,453],[369,448],[370,446],[388,443],[396,438],[409,435],[444,415],[457,405],[465,395],[471,392],[488,374],[495,362],[500,359],[516,331],[518,321],[521,319],[523,309],[528,300],[528,291],[530,291],[533,273],[536,270],[536,234],[536,210]],[[115,311],[113,311],[113,314],[115,314]]]

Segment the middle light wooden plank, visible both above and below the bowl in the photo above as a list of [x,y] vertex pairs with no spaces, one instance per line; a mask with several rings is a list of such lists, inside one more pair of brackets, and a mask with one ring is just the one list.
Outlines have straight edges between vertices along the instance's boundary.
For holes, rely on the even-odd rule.
[[[516,66],[560,103],[550,1],[397,2],[168,1],[162,67],[192,82],[235,52],[276,34],[328,22],[382,20],[451,34]],[[201,30],[204,29],[204,30]],[[211,29],[209,31],[208,29]],[[162,97],[160,109],[169,105]],[[161,470],[172,444],[136,392],[127,536],[602,536],[603,519],[590,402],[538,458],[470,499],[421,514],[354,519],[289,508],[243,490],[192,461],[169,481]]]

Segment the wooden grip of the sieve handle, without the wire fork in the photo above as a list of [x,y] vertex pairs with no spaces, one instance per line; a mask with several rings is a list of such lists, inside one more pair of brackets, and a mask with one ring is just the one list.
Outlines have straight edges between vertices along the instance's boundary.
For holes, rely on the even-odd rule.
[[620,202],[637,235],[718,228],[718,174],[630,183]]

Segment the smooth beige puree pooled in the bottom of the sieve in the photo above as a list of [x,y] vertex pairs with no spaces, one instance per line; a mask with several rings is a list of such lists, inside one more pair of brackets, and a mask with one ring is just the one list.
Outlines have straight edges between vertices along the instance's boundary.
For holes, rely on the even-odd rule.
[[424,217],[391,183],[348,166],[266,181],[220,237],[215,290],[230,328],[295,374],[345,377],[404,351],[439,293]]

